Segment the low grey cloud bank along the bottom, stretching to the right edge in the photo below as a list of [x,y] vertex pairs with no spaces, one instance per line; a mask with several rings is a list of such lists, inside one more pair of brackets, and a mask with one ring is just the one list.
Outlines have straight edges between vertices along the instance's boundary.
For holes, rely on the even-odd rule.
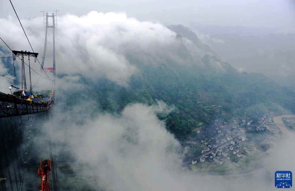
[[[94,118],[87,117],[87,111],[82,115],[72,110],[56,111],[58,126],[50,128],[55,129],[55,141],[63,144],[59,155],[70,153],[66,155],[72,161],[68,163],[72,168],[83,165],[75,175],[90,177],[86,182],[93,190],[234,191],[238,187],[246,191],[250,185],[256,190],[269,190],[276,170],[294,170],[291,161],[294,153],[290,152],[294,140],[286,137],[275,143],[273,152],[262,153],[260,160],[253,161],[257,169],[249,167],[245,174],[181,172],[174,154],[178,142],[157,117],[157,113],[171,109],[163,102],[150,106],[131,104],[119,115],[99,114]],[[77,123],[79,118],[83,120]],[[39,138],[35,142],[40,145]],[[60,170],[60,180],[69,176],[64,173]],[[67,183],[61,182],[64,187]]]

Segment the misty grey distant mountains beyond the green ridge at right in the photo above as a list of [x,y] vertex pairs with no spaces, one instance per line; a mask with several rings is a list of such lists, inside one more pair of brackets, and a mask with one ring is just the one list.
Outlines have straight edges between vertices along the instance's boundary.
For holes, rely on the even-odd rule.
[[272,31],[246,36],[240,33],[219,33],[208,34],[204,42],[209,44],[223,61],[238,70],[262,73],[294,90],[294,34],[273,34]]

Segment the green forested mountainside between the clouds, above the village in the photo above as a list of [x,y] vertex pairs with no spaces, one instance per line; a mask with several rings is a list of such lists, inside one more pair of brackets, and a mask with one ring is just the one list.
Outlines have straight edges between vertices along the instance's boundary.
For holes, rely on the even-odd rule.
[[[211,64],[212,60],[219,62],[215,57],[205,56],[199,64],[177,64],[163,59],[153,65],[142,63],[132,55],[127,59],[139,71],[130,78],[128,87],[105,78],[94,82],[81,77],[81,83],[88,84],[75,94],[68,92],[67,97],[57,95],[60,96],[57,100],[87,104],[88,100],[94,99],[96,104],[87,105],[93,116],[98,112],[120,113],[131,103],[151,105],[163,100],[176,109],[167,116],[158,116],[181,140],[186,139],[194,128],[209,124],[216,117],[225,120],[233,115],[253,118],[266,109],[279,113],[277,105],[295,112],[293,91],[262,74],[239,73],[227,63],[221,63],[223,70],[218,71]],[[89,87],[94,88],[89,90]]]

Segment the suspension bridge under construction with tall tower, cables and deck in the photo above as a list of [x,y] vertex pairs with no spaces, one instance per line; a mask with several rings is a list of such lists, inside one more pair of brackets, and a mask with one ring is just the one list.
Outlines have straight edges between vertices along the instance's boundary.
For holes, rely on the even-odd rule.
[[[17,16],[19,24],[22,27],[24,35],[30,45],[31,51],[19,51],[12,50],[8,44],[1,39],[1,41],[8,47],[12,52],[11,57],[1,57],[2,58],[12,58],[14,67],[14,77],[16,76],[15,64],[16,60],[21,61],[21,79],[13,79],[12,77],[7,77],[0,74],[0,77],[4,77],[12,81],[14,85],[10,85],[7,89],[10,90],[10,94],[5,94],[0,92],[0,139],[1,149],[0,152],[3,155],[0,156],[0,184],[2,190],[22,190],[25,182],[25,170],[26,170],[26,158],[28,150],[26,146],[29,144],[24,137],[29,136],[31,131],[27,131],[26,127],[33,121],[33,114],[44,113],[46,115],[46,126],[47,126],[47,137],[48,137],[48,150],[45,151],[50,156],[49,159],[42,160],[40,162],[40,168],[36,169],[36,176],[40,177],[40,181],[36,182],[36,188],[38,191],[49,191],[60,190],[59,186],[59,175],[57,167],[57,155],[55,153],[55,144],[52,142],[51,138],[51,126],[53,124],[53,114],[52,108],[55,101],[55,30],[57,29],[57,11],[43,10],[43,19],[45,26],[45,42],[43,57],[41,63],[38,60],[38,53],[34,52],[32,45],[27,37],[27,34],[22,26],[22,23],[17,15],[17,11],[9,0],[12,8]],[[49,24],[49,20],[52,19],[52,24]],[[45,56],[47,50],[47,30],[52,29],[53,37],[53,62],[52,66],[49,68],[44,68]],[[31,59],[31,60],[30,60]],[[36,72],[32,68],[32,60],[35,63],[40,64],[40,71]],[[46,64],[48,65],[48,64]],[[34,86],[32,83],[33,73],[37,75],[36,81],[40,77],[47,80],[47,86],[50,84],[51,90],[40,90],[38,86]],[[52,74],[51,77],[48,74]],[[21,86],[21,87],[20,87]],[[3,88],[2,88],[3,89]],[[12,93],[12,89],[16,89]],[[36,90],[37,89],[37,90]],[[34,91],[35,90],[35,91]],[[32,119],[29,120],[29,115]],[[24,120],[24,116],[27,116],[27,120]],[[29,124],[28,124],[29,123]],[[32,125],[31,125],[32,126]],[[28,137],[30,138],[30,137]],[[45,154],[46,154],[45,153]],[[50,173],[49,173],[50,172]],[[50,177],[51,174],[51,178]],[[49,186],[51,182],[51,186]]]

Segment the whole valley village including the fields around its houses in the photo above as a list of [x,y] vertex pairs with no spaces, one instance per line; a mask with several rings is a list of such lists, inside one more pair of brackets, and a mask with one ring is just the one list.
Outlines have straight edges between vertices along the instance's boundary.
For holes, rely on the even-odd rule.
[[180,157],[181,170],[235,174],[261,167],[259,160],[272,151],[271,142],[281,137],[271,114],[259,116],[256,122],[249,118],[230,122],[215,119],[212,124],[197,128],[193,139],[182,145],[187,153],[195,147],[201,150],[196,155]]

